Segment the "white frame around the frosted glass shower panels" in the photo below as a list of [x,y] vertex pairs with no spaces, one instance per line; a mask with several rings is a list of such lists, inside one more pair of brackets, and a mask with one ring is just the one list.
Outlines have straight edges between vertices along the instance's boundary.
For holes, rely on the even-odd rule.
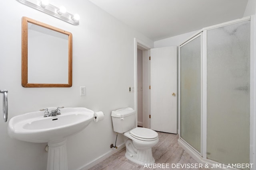
[[[178,55],[178,133],[180,135],[180,47],[192,41],[194,37],[202,35],[201,37],[201,153],[198,153],[191,145],[184,139],[179,138],[178,143],[184,148],[186,145],[190,150],[184,148],[190,155],[198,162],[216,164],[214,160],[207,159],[207,31],[234,23],[250,20],[250,163],[254,164],[256,170],[256,26],[255,16],[248,16],[238,20],[232,20],[225,23],[220,23],[210,27],[205,27],[188,38],[179,46]],[[183,142],[183,143],[182,143]],[[192,150],[191,150],[192,149]]]

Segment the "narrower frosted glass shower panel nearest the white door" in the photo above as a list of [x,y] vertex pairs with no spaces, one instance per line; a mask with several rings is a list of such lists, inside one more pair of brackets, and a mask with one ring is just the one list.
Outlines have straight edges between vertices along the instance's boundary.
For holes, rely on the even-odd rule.
[[201,152],[201,34],[180,47],[180,137]]

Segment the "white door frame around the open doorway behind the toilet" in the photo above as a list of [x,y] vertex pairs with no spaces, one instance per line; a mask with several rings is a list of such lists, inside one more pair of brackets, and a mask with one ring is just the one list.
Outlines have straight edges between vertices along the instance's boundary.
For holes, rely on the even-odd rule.
[[143,51],[142,53],[142,63],[143,63],[143,99],[146,99],[146,101],[143,100],[143,118],[142,118],[142,124],[143,127],[150,128],[150,46],[144,43],[143,41],[140,41],[136,37],[134,38],[134,110],[136,111],[136,119],[135,119],[135,126],[138,126],[138,63],[137,63],[137,49],[141,49]]

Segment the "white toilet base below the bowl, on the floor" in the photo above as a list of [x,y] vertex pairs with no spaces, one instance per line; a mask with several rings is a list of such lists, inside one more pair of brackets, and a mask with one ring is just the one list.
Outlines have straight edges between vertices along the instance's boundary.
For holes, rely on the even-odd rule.
[[152,156],[151,148],[146,150],[137,150],[136,154],[132,154],[126,149],[125,157],[130,161],[142,166],[144,166],[145,164],[151,165],[155,162],[155,159]]

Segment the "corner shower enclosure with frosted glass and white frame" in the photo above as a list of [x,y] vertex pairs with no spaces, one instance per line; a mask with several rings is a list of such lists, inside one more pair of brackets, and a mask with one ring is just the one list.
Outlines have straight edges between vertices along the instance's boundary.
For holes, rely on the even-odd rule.
[[180,45],[178,143],[213,166],[253,162],[251,29],[251,18],[243,18],[202,29]]

